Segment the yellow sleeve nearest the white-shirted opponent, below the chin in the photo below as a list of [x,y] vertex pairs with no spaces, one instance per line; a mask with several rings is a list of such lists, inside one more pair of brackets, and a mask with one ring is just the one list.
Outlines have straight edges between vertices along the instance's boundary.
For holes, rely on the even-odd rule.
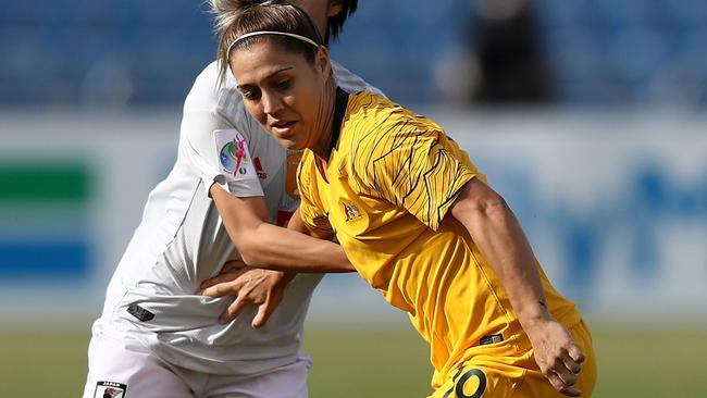
[[299,213],[302,222],[311,229],[332,232],[327,213],[317,194],[317,170],[314,157],[309,150],[302,154],[297,169],[297,188],[299,189]]

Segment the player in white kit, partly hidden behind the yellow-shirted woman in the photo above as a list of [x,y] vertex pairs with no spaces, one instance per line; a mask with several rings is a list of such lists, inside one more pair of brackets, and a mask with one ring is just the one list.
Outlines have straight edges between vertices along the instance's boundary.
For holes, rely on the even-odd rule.
[[[211,5],[223,23],[259,2]],[[357,0],[294,3],[333,38],[357,8]],[[345,89],[372,89],[334,70]],[[298,163],[299,152],[249,116],[231,74],[220,82],[218,62],[207,66],[184,104],[174,169],[149,195],[92,326],[84,398],[307,397],[310,360],[300,339],[321,275],[252,270],[233,282],[243,287],[236,301],[199,295],[203,281],[238,258],[350,270],[337,245],[269,224],[297,208]],[[273,240],[290,246],[275,251]]]

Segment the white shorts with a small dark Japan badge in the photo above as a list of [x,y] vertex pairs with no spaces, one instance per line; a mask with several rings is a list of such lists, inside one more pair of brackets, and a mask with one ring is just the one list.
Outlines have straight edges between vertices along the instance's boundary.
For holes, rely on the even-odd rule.
[[307,398],[311,359],[255,375],[189,371],[154,356],[136,339],[91,337],[84,398]]

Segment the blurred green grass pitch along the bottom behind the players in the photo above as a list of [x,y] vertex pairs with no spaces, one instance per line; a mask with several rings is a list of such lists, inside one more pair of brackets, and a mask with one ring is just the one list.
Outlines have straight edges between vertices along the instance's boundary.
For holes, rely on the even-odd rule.
[[[593,326],[599,362],[595,397],[707,397],[707,327]],[[360,329],[308,327],[313,398],[430,393],[426,347],[413,331]],[[88,325],[0,331],[0,397],[80,396],[87,331]]]

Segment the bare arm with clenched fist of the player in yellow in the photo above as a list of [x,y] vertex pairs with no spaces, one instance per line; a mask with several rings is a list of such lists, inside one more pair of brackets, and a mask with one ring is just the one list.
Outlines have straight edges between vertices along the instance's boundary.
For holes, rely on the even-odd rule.
[[498,274],[545,376],[560,393],[579,396],[581,391],[572,386],[582,370],[584,355],[550,314],[535,256],[504,198],[473,178],[452,204],[450,213],[469,231]]

